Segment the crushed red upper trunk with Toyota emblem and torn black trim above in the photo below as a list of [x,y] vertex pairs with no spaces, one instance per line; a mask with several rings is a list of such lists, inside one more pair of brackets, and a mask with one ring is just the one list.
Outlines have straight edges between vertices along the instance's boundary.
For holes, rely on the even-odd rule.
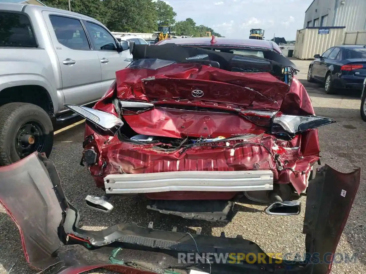
[[174,44],[133,47],[133,62],[116,72],[120,99],[199,99],[279,110],[296,70],[277,53],[269,60]]

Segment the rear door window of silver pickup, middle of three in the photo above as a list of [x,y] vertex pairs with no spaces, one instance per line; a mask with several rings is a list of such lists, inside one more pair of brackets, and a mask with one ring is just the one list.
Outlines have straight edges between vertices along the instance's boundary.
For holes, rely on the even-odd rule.
[[80,20],[57,15],[50,15],[49,19],[60,44],[70,49],[90,50],[90,45]]

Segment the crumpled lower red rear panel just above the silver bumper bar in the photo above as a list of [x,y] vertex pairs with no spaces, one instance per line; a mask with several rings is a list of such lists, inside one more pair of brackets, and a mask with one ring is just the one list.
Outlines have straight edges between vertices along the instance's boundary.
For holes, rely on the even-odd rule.
[[[306,156],[300,150],[301,136],[291,141],[278,140],[268,134],[260,134],[246,140],[247,144],[234,147],[243,140],[216,142],[215,147],[194,146],[189,149],[162,151],[152,145],[134,145],[121,142],[117,137],[96,134],[86,125],[85,135],[93,135],[87,148],[93,146],[98,153],[97,165],[89,170],[96,179],[97,186],[103,187],[107,174],[142,174],[167,171],[235,171],[235,170],[272,170],[277,183],[291,182],[299,193],[306,188],[306,176],[317,156]],[[228,145],[229,143],[229,145]],[[275,155],[283,170],[278,171]],[[102,168],[104,161],[107,167]],[[292,171],[295,170],[295,171]],[[225,197],[229,195],[225,194]],[[232,198],[235,193],[231,194]],[[150,197],[153,197],[150,195]],[[179,193],[174,195],[181,197]],[[206,197],[206,198],[205,198]],[[211,195],[198,195],[197,199],[212,199]],[[184,198],[186,199],[186,198]]]

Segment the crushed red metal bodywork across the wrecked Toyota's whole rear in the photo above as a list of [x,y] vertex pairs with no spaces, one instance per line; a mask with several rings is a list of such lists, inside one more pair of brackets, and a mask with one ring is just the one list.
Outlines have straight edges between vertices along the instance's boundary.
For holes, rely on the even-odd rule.
[[[146,80],[149,77],[154,79]],[[193,90],[202,91],[204,96],[195,98]],[[300,193],[306,189],[311,167],[319,159],[316,129],[285,141],[267,134],[265,126],[255,125],[240,114],[255,109],[313,115],[309,95],[295,78],[289,86],[270,73],[230,72],[199,64],[126,68],[116,72],[116,88],[94,109],[118,116],[111,102],[115,97],[154,104],[154,108],[141,113],[123,115],[128,130],[136,134],[182,139],[253,136],[245,144],[243,140],[230,140],[161,150],[156,144],[133,144],[103,135],[87,124],[85,136],[93,136],[94,140],[85,149],[93,147],[98,155],[97,163],[90,166],[98,187],[104,187],[103,178],[109,174],[271,170],[274,183],[291,183]],[[235,194],[170,191],[146,195],[150,199],[230,199]]]

